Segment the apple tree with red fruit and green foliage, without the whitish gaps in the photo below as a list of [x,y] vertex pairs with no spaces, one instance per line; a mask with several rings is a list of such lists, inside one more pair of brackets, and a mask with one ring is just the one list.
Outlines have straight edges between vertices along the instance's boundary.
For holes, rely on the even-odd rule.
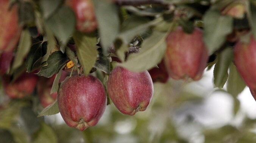
[[[256,99],[255,23],[254,0],[0,0],[0,142],[112,142],[120,119],[131,142],[189,142],[172,116],[205,71],[234,116],[246,86]],[[255,142],[254,124],[200,134]]]

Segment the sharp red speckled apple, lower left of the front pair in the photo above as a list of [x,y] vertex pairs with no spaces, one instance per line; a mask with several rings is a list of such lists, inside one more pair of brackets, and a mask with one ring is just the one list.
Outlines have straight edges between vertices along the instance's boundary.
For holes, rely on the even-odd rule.
[[57,99],[59,112],[66,124],[81,131],[95,126],[107,105],[105,88],[92,75],[76,75],[64,81]]

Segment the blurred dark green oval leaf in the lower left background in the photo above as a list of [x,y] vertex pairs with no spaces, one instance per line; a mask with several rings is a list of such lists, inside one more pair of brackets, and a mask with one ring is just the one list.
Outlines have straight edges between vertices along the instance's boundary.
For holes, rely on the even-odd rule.
[[40,122],[31,108],[23,107],[20,111],[20,117],[28,134],[32,135],[40,128]]

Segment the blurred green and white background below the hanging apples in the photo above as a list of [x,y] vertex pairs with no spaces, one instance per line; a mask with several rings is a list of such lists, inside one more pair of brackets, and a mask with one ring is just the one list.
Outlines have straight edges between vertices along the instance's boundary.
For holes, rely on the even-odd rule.
[[[156,82],[146,111],[123,115],[111,103],[98,124],[85,131],[67,126],[60,114],[36,117],[43,109],[37,98],[32,107],[13,100],[0,107],[0,143],[256,142],[256,102],[248,87],[237,102],[212,81],[213,68],[197,82]],[[0,95],[3,99],[3,89]]]

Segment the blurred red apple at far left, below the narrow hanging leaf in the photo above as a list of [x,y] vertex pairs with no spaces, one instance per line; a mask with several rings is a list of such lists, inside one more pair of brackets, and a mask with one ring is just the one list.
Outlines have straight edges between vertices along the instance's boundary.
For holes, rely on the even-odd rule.
[[3,84],[5,88],[5,93],[11,98],[23,98],[25,96],[33,93],[36,82],[37,75],[33,73],[23,73],[17,78],[13,83],[11,83],[11,79],[9,76],[3,77]]

